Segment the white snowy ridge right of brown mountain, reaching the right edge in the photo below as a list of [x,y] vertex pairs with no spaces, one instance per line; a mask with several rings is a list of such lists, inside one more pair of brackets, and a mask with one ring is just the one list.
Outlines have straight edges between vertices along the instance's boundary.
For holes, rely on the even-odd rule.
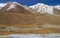
[[38,3],[36,5],[29,6],[29,7],[36,10],[37,12],[47,13],[47,14],[54,14],[54,10],[60,10],[59,5],[57,5],[57,6],[49,6],[49,5],[46,5],[46,4],[43,4],[43,3]]

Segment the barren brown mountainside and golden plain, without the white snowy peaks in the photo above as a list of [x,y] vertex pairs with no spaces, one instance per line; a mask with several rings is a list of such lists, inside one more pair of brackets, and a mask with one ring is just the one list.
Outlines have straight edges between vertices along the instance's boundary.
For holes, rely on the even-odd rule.
[[[15,8],[7,10],[12,4]],[[60,33],[60,16],[39,14],[27,6],[12,4],[8,3],[0,10],[0,35]]]

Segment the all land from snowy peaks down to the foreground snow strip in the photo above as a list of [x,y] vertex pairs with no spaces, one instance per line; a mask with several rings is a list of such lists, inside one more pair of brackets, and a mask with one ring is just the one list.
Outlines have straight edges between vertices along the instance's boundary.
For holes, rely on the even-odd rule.
[[0,31],[18,33],[60,33],[60,6],[38,3],[0,3]]

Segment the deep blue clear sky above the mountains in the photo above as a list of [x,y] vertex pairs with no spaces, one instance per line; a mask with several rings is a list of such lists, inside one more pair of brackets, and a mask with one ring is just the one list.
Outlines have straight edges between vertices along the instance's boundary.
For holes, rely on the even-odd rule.
[[23,5],[34,5],[37,3],[44,3],[47,5],[60,5],[60,0],[0,0],[0,3],[6,3],[6,2],[18,2]]

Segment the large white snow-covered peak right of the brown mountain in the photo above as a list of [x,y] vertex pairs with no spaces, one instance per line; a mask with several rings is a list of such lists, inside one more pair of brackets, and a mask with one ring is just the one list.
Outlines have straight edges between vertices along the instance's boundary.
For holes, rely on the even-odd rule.
[[38,3],[36,5],[29,6],[29,7],[41,13],[53,14],[53,7],[43,3]]

